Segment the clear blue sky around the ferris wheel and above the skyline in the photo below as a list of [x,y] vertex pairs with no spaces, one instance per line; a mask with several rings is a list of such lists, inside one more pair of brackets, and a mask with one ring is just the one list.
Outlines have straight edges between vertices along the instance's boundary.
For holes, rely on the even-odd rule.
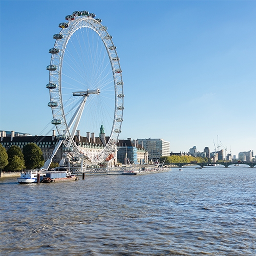
[[[256,152],[256,1],[1,1],[0,130],[45,135],[48,50],[76,10],[102,19],[124,81],[120,139]],[[45,130],[44,130],[45,129]],[[86,136],[84,134],[84,136]],[[221,148],[223,148],[221,146]]]

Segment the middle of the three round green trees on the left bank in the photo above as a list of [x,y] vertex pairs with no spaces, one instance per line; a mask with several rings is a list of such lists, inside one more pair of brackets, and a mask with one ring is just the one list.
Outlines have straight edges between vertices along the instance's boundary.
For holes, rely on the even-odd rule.
[[7,151],[9,164],[7,170],[22,170],[25,167],[25,161],[22,150],[18,146],[11,146]]

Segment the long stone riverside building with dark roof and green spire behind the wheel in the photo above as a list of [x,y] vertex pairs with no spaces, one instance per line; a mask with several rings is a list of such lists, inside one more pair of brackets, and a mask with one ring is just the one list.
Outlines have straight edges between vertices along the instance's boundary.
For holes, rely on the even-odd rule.
[[[1,144],[6,148],[6,150],[13,145],[18,146],[22,150],[26,144],[35,143],[41,148],[45,161],[51,157],[52,152],[58,143],[58,137],[56,136],[55,130],[52,131],[52,136],[31,136],[30,134],[15,133],[14,131],[0,131],[0,133]],[[80,135],[80,131],[78,130],[74,136],[74,141],[79,147],[85,149],[88,153],[95,153],[103,150],[109,141],[109,137],[105,136],[103,125],[101,125],[99,137],[95,137],[95,134],[90,132],[87,132],[87,136],[83,137]],[[60,146],[53,157],[52,162],[59,163],[61,161],[63,155],[62,147],[64,147],[64,145]],[[127,158],[131,163],[148,163],[148,154],[145,149],[138,144],[138,141],[132,142],[131,138],[129,138],[127,140],[119,140],[119,143],[115,147],[113,164],[116,164],[117,162],[124,163],[125,155],[123,156],[123,153],[126,153],[126,148]]]

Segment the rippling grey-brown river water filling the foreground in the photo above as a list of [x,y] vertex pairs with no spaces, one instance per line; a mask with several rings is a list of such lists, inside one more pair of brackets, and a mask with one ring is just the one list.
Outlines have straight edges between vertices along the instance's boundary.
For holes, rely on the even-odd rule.
[[256,255],[256,167],[18,184],[0,179],[2,255]]

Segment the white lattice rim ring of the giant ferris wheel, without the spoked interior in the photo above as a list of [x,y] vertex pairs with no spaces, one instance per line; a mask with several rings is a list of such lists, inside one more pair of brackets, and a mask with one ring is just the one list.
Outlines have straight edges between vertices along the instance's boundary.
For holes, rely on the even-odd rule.
[[[64,24],[64,23],[63,23]],[[63,25],[62,24],[62,25]],[[118,141],[119,134],[121,132],[121,124],[123,120],[123,80],[122,71],[120,68],[119,58],[116,52],[116,47],[113,43],[112,36],[106,31],[106,27],[101,25],[100,19],[95,19],[89,15],[76,16],[75,19],[69,20],[66,28],[62,27],[61,31],[57,35],[62,35],[61,39],[56,39],[54,48],[50,49],[52,53],[49,74],[49,84],[56,84],[56,87],[49,86],[50,91],[50,106],[53,114],[53,121],[56,125],[56,129],[59,134],[59,138],[62,139],[67,154],[71,157],[87,157],[92,163],[99,163],[105,160],[109,154],[114,151],[114,146]],[[61,25],[61,24],[60,24]],[[97,33],[98,38],[101,39],[102,44],[105,48],[105,52],[109,57],[109,63],[112,69],[112,77],[115,91],[115,108],[112,129],[109,136],[109,141],[106,143],[104,148],[98,153],[88,153],[79,147],[73,140],[74,132],[70,130],[68,121],[66,120],[66,113],[64,109],[64,103],[62,99],[62,87],[61,87],[61,76],[62,76],[62,64],[65,58],[65,51],[73,34],[79,29],[87,28]],[[58,52],[57,52],[57,50]],[[51,70],[52,68],[52,70]],[[56,68],[56,69],[55,69]],[[94,94],[96,94],[94,92]],[[73,93],[74,95],[74,93]],[[87,97],[86,97],[87,98]],[[86,101],[86,100],[85,100]],[[48,105],[49,105],[48,104]],[[84,103],[86,104],[86,103]]]

